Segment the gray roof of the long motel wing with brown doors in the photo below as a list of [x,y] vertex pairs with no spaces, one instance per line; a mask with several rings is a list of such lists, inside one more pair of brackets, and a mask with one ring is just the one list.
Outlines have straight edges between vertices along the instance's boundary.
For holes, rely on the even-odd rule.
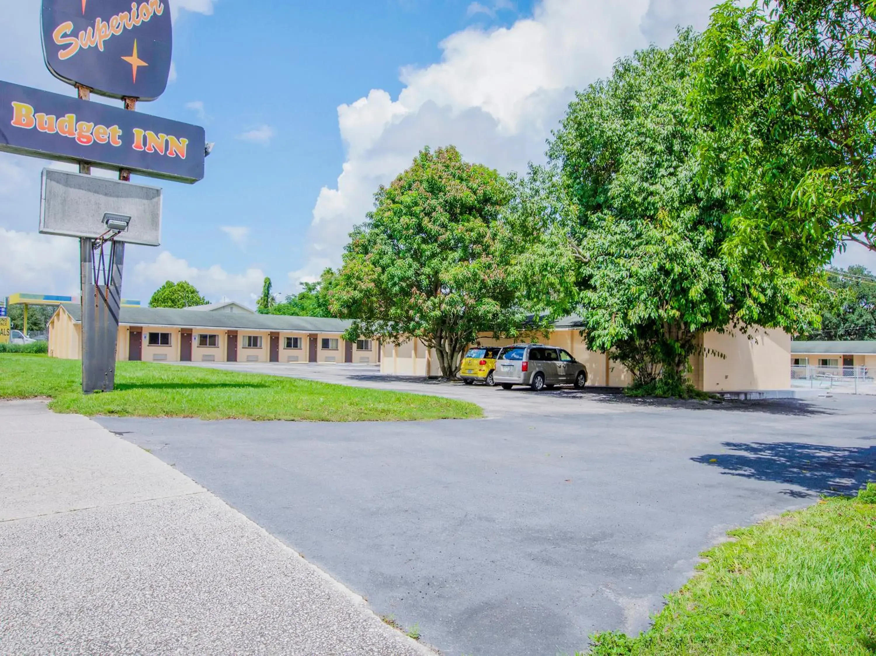
[[[82,320],[79,305],[62,305],[74,321]],[[125,326],[166,326],[168,328],[223,328],[227,330],[275,330],[298,333],[343,333],[351,321],[295,317],[280,314],[237,312],[191,312],[167,307],[123,307],[119,321]]]

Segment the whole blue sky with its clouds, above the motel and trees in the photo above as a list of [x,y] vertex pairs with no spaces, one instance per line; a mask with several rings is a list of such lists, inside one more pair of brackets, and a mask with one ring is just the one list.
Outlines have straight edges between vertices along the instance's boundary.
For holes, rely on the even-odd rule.
[[[675,25],[702,27],[710,4],[172,2],[175,77],[138,109],[200,123],[216,146],[204,180],[161,184],[162,246],[129,250],[124,295],[184,278],[251,303],[265,275],[296,292],[337,264],[371,194],[423,145],[520,170],[576,88]],[[38,0],[0,6],[0,79],[72,94],[42,64]],[[0,295],[78,287],[74,240],[36,234],[42,166],[0,154]]]

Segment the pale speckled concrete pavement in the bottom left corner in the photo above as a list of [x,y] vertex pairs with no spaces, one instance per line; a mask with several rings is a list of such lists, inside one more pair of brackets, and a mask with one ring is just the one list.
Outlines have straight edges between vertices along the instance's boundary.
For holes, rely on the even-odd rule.
[[0,403],[0,654],[425,647],[179,471],[84,417]]

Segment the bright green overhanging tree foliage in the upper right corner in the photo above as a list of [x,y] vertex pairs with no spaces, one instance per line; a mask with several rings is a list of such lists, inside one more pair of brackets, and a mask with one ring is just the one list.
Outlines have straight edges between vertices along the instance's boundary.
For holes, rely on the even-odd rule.
[[804,275],[842,241],[876,250],[876,4],[727,1],[698,55],[703,175],[740,199],[728,246]]

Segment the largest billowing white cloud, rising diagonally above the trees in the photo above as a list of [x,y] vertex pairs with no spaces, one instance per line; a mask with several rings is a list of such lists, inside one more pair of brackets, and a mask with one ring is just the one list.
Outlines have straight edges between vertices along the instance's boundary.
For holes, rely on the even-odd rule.
[[[474,10],[509,4],[481,2]],[[510,27],[451,34],[441,43],[440,62],[402,68],[405,86],[396,100],[372,89],[338,108],[346,161],[336,186],[323,187],[316,199],[310,261],[290,275],[318,276],[324,262],[337,265],[378,186],[410,166],[424,145],[456,145],[464,158],[502,173],[543,160],[545,140],[576,89],[611,74],[618,57],[650,41],[666,45],[675,23],[702,28],[711,4],[540,0],[531,17]]]

